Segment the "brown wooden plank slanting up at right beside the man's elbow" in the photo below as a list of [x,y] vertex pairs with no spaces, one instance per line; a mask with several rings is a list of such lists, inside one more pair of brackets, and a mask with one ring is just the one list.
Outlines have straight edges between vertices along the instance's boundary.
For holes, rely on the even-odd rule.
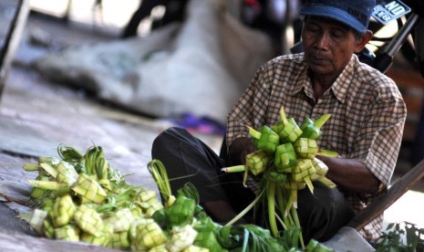
[[384,211],[403,194],[408,192],[414,184],[419,182],[424,177],[424,160],[421,160],[416,166],[414,166],[408,173],[405,173],[398,181],[388,188],[387,194],[382,194],[371,205],[368,205],[363,211],[347,225],[357,230],[366,226],[370,221],[375,219],[378,215],[384,213]]

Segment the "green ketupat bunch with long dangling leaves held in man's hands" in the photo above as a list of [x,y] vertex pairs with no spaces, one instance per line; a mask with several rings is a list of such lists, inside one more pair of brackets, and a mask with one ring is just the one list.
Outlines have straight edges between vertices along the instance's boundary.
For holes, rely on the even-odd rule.
[[[284,108],[280,110],[280,115],[281,120],[271,127],[264,125],[256,131],[248,126],[258,151],[246,156],[245,165],[222,168],[225,173],[244,172],[243,184],[248,173],[262,176],[263,188],[257,202],[268,209],[266,223],[275,237],[280,236],[278,226],[284,230],[301,228],[296,211],[298,190],[308,187],[314,193],[313,181],[320,181],[329,187],[336,186],[326,178],[326,164],[315,155],[338,156],[336,152],[319,149],[316,143],[321,137],[320,129],[330,114],[316,121],[306,118],[300,126],[294,118],[286,118]],[[305,248],[301,233],[298,238]]]

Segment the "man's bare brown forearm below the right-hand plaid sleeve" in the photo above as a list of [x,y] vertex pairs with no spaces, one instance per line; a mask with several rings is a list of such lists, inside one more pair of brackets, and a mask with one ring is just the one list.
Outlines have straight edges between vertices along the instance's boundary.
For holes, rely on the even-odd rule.
[[352,193],[373,194],[380,181],[367,167],[354,159],[317,156],[328,166],[326,177]]

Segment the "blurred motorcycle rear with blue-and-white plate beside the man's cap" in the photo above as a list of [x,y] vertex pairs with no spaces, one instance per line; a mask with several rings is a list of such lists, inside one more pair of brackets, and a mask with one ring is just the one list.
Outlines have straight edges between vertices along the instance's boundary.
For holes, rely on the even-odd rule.
[[[404,2],[406,4],[399,0],[377,1],[369,26],[375,34],[370,45],[376,48],[371,53],[367,47],[359,57],[370,66],[386,72],[400,51],[405,58],[418,65],[424,77],[424,3],[419,0]],[[398,26],[395,34],[378,37],[380,31],[388,30],[393,23]]]

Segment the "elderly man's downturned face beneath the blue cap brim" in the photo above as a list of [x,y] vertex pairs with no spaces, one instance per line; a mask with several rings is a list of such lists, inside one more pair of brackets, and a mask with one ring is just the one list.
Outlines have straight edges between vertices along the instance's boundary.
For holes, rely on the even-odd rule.
[[305,60],[316,75],[338,76],[352,54],[362,49],[357,47],[357,39],[351,29],[325,17],[308,16],[302,40]]

